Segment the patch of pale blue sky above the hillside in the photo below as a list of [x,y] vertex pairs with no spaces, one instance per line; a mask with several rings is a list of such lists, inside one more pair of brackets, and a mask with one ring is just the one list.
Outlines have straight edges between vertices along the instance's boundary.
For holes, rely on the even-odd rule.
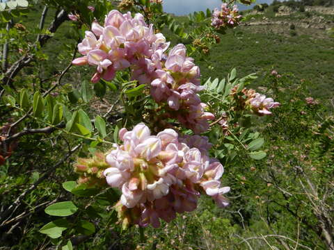
[[[186,15],[194,11],[210,10],[221,6],[221,0],[164,0],[164,11],[175,15]],[[257,3],[271,3],[271,0],[257,0]],[[248,8],[252,8],[249,7]],[[245,10],[240,6],[239,10]]]

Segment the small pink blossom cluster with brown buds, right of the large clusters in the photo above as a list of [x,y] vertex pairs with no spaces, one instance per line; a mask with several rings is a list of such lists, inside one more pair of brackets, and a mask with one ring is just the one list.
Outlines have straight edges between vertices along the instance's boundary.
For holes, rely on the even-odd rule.
[[241,95],[238,95],[238,88],[239,85],[235,86],[231,91],[231,95],[237,100],[237,108],[240,110],[249,108],[256,115],[264,116],[271,115],[271,108],[280,106],[279,102],[273,101],[272,98],[267,98],[264,94],[257,93],[252,89],[244,88],[241,90]]

